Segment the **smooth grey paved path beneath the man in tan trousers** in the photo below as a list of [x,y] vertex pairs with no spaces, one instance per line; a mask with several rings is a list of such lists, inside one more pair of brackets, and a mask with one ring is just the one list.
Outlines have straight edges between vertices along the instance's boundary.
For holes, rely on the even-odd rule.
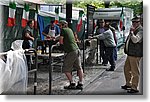
[[[142,79],[141,76],[139,84],[139,93],[127,93],[126,90],[121,89],[125,84],[124,78],[124,62],[126,56],[123,56],[117,61],[115,71],[105,71],[96,80],[84,88],[78,95],[143,95]],[[140,67],[142,69],[142,66]],[[142,73],[142,70],[141,70]]]

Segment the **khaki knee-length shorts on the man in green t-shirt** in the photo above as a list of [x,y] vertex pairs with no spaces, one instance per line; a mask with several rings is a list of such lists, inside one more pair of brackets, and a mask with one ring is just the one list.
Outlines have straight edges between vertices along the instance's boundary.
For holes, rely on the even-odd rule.
[[73,68],[76,70],[82,69],[81,53],[79,49],[67,53],[64,58],[63,72],[72,72]]

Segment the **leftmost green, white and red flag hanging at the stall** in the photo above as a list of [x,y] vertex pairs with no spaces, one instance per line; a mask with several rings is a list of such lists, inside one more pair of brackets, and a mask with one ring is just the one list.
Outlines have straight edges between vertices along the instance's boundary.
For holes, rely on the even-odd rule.
[[9,17],[8,17],[8,22],[7,26],[12,27],[14,26],[15,23],[15,12],[16,12],[16,4],[15,2],[10,2],[9,3]]

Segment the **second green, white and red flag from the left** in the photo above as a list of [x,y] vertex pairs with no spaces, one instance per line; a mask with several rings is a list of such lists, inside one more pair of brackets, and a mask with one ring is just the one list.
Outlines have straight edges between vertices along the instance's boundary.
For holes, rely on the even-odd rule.
[[29,4],[24,5],[23,16],[22,16],[22,27],[27,25],[29,19]]

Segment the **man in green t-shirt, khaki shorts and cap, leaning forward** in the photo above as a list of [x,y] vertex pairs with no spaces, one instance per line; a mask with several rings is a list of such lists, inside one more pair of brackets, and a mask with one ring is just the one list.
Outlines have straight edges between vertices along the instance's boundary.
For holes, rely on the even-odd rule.
[[[79,47],[75,41],[73,31],[68,27],[68,23],[64,20],[59,22],[61,34],[59,37],[60,44],[64,45],[64,51],[66,53],[63,65],[63,72],[67,76],[70,85],[65,86],[65,89],[83,89],[83,70],[81,67],[81,54]],[[79,82],[76,84],[73,82],[72,69],[76,68]]]

